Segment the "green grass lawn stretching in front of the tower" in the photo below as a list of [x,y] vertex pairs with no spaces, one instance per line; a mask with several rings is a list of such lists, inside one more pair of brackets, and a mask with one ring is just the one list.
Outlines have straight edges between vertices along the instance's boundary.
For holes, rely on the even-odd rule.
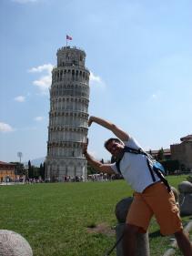
[[[186,176],[168,179],[177,188]],[[34,256],[99,256],[116,240],[116,203],[132,190],[116,180],[0,186],[0,195],[0,229],[23,235]],[[186,224],[191,217],[182,220]],[[98,225],[103,233],[87,229]],[[156,220],[151,221],[149,240],[151,256],[161,256],[170,244]]]

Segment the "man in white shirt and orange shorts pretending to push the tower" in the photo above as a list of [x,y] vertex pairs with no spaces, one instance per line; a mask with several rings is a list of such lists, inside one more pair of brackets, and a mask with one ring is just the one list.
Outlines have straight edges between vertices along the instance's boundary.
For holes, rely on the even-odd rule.
[[[124,151],[125,146],[141,148],[136,140],[105,119],[90,117],[88,126],[90,127],[93,122],[111,130],[118,138],[109,138],[105,147],[116,161],[120,161],[121,174],[135,190],[134,200],[126,217],[123,237],[124,255],[136,255],[136,233],[146,232],[152,216],[155,215],[161,233],[163,235],[174,234],[183,255],[192,256],[192,246],[183,231],[173,192],[167,190],[156,173],[153,173],[154,179],[152,179],[147,166],[147,156]],[[86,149],[87,145],[84,148],[84,155],[93,168],[108,174],[118,173],[116,163],[103,164],[94,159]]]

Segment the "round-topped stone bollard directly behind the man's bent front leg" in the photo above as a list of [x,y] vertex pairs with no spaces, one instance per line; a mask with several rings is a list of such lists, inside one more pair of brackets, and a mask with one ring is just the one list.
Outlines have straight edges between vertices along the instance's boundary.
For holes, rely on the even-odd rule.
[[[123,233],[126,215],[128,209],[132,203],[133,198],[126,198],[120,200],[116,204],[116,219],[118,224],[116,225],[116,241],[120,238]],[[146,234],[136,235],[136,256],[149,256],[149,242],[148,242],[148,232]],[[122,241],[120,241],[116,246],[116,256],[124,256]]]

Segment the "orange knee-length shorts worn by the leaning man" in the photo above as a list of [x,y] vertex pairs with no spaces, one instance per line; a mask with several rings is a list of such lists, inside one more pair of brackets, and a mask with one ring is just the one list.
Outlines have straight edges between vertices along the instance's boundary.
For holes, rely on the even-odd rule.
[[134,193],[134,200],[126,217],[126,223],[140,227],[146,232],[152,216],[155,215],[163,235],[170,235],[183,229],[179,210],[173,192],[157,182],[142,193]]

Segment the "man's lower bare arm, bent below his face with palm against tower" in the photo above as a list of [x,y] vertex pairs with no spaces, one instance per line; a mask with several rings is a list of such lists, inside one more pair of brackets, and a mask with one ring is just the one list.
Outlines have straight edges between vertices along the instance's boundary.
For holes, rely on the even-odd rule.
[[96,170],[105,172],[107,174],[115,174],[115,171],[111,168],[110,164],[102,164],[101,162],[94,159],[86,150],[87,145],[83,148],[83,153],[86,157],[87,162]]

